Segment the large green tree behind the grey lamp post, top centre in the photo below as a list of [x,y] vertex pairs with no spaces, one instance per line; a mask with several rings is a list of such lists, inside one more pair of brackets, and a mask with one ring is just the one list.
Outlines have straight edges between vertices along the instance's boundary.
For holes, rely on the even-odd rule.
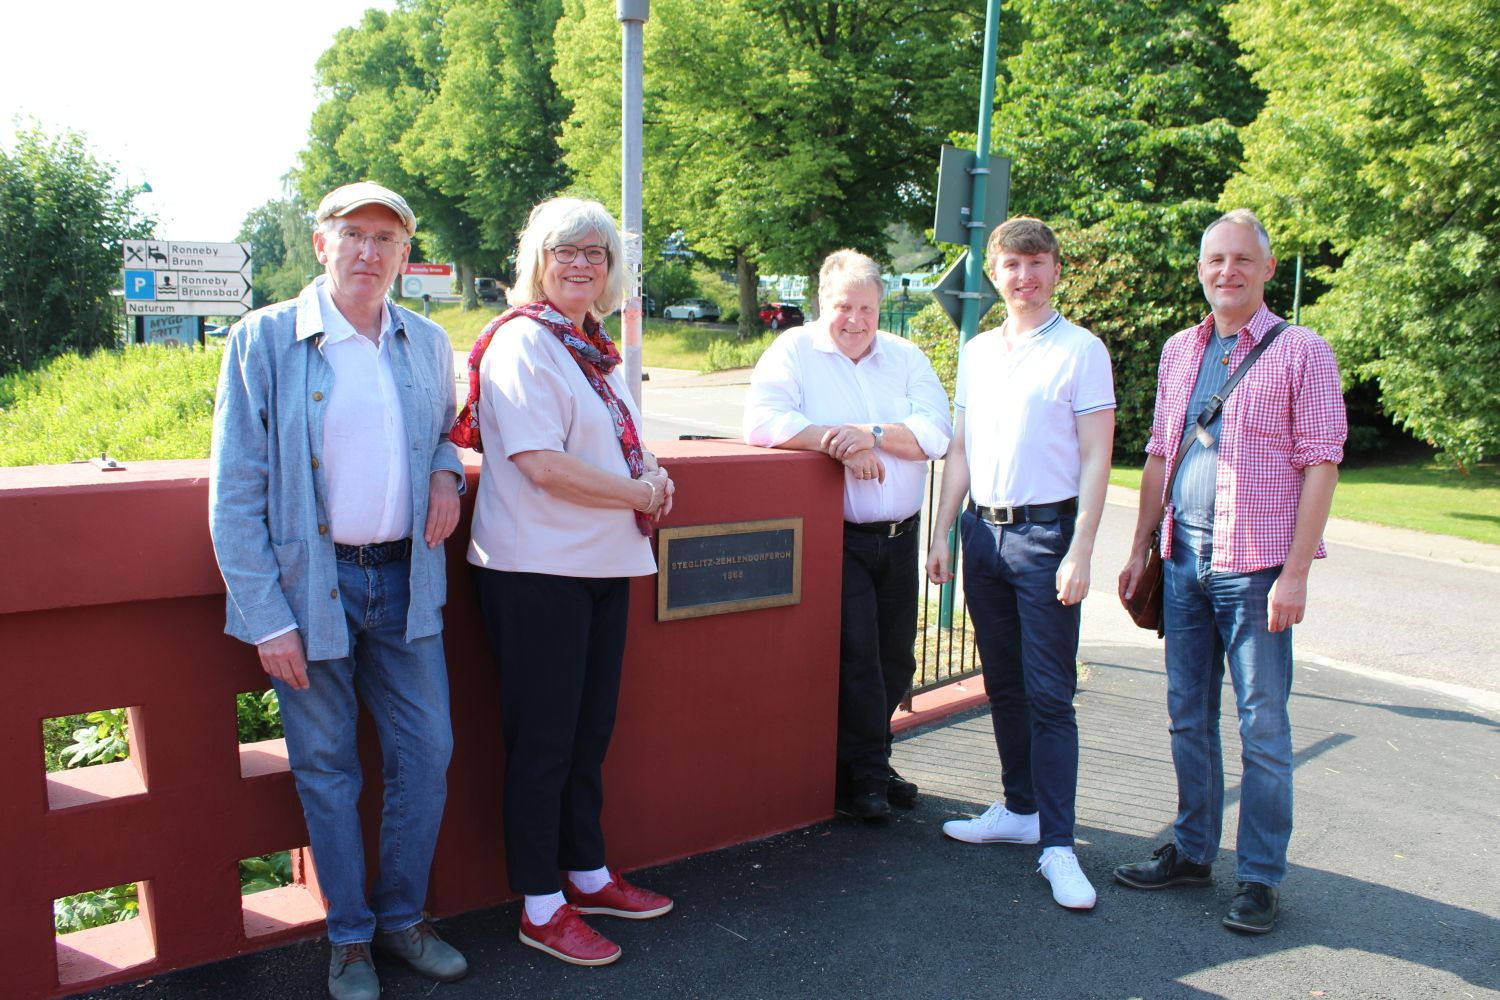
[[[886,226],[930,219],[938,148],[974,120],[982,24],[912,0],[657,0],[646,24],[646,234],[734,261],[741,333],[758,270],[816,277],[830,252],[885,258]],[[618,205],[620,28],[566,0],[555,70],[580,186]],[[712,72],[705,72],[705,66]]]

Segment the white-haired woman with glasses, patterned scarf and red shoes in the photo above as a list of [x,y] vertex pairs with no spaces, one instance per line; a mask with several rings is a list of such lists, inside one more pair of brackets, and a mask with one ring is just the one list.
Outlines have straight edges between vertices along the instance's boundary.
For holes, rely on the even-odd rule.
[[578,198],[542,202],[516,258],[512,309],[476,343],[453,435],[484,456],[468,561],[500,669],[506,865],[525,895],[522,943],[604,966],[620,946],[582,915],[672,909],[606,867],[600,813],[630,577],[656,573],[651,525],[672,508],[674,486],[640,444],[600,325],[624,291],[609,213]]

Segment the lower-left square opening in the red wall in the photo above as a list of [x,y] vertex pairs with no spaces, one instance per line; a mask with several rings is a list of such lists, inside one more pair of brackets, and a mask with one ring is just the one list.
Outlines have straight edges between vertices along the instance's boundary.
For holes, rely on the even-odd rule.
[[52,901],[57,981],[63,987],[82,985],[156,960],[150,889],[150,882],[129,882]]

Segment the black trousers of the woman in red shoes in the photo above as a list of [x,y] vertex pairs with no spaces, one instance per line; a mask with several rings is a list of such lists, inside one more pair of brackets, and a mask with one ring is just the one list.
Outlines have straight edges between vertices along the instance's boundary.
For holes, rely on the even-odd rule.
[[477,570],[500,669],[510,888],[604,865],[603,765],[615,729],[630,580]]

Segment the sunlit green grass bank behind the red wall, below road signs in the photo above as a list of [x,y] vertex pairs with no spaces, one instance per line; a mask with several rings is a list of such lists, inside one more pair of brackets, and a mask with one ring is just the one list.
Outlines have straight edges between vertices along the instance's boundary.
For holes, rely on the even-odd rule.
[[0,466],[208,454],[218,346],[64,354],[0,379]]

